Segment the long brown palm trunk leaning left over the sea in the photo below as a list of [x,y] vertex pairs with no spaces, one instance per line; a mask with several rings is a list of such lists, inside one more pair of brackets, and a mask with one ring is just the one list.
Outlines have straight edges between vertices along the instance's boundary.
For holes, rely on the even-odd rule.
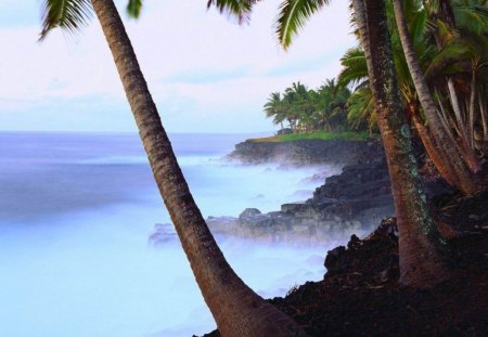
[[287,315],[234,273],[209,232],[178,166],[113,0],[92,0],[130,103],[160,195],[196,282],[223,336],[304,336]]

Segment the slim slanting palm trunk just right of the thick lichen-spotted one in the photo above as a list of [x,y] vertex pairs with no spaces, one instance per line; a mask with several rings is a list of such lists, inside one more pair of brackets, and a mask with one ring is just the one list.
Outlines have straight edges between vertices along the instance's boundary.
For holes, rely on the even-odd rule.
[[420,67],[415,51],[413,49],[413,43],[408,31],[407,20],[404,17],[401,1],[394,0],[393,3],[401,46],[403,48],[407,65],[412,76],[413,85],[419,94],[419,101],[421,102],[422,108],[425,112],[425,117],[428,121],[431,130],[433,131],[436,143],[437,145],[439,145],[439,153],[446,152],[447,155],[447,157],[442,158],[442,166],[445,168],[440,166],[438,167],[438,169],[439,171],[455,171],[459,177],[458,187],[465,194],[472,194],[476,191],[476,185],[473,182],[468,170],[464,166],[462,157],[457,151],[455,145],[451,142],[448,134],[442,128],[439,112],[437,111],[437,106],[434,103],[434,98],[431,94],[424,74]]

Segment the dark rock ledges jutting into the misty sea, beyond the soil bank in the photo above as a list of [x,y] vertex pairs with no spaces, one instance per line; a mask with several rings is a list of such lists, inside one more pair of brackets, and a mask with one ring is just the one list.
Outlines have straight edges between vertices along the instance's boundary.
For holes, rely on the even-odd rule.
[[[368,234],[383,218],[394,213],[389,177],[378,140],[245,141],[236,144],[228,157],[244,164],[333,164],[343,166],[343,171],[326,178],[311,198],[283,204],[280,210],[262,213],[258,208],[248,208],[237,218],[207,218],[216,235],[323,245],[352,233]],[[150,242],[157,245],[165,237],[163,232],[164,226],[156,226]]]

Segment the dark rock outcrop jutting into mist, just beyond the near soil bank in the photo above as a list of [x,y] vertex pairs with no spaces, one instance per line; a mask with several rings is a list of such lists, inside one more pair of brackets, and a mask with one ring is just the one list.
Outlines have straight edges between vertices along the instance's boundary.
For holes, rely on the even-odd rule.
[[209,217],[214,233],[288,244],[326,243],[352,233],[365,234],[394,213],[386,164],[347,166],[325,180],[313,197],[261,213],[245,209],[239,218]]

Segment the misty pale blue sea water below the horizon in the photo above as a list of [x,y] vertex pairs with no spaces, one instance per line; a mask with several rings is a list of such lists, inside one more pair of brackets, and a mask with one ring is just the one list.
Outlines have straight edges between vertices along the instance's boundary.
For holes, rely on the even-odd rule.
[[[280,209],[311,196],[326,167],[222,157],[249,135],[171,134],[204,217]],[[331,173],[332,173],[331,168]],[[0,133],[0,336],[187,336],[215,324],[174,233],[137,134]],[[265,297],[323,276],[328,246],[217,237]]]

